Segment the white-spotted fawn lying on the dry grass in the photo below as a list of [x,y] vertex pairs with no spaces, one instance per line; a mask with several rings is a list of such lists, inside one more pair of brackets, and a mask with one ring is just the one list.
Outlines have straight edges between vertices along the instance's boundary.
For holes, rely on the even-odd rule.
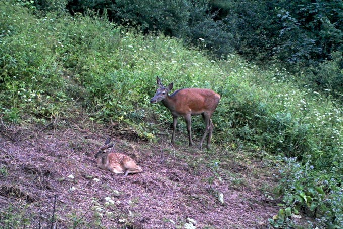
[[109,170],[115,174],[124,174],[127,176],[129,173],[138,173],[143,170],[136,164],[136,162],[121,153],[110,153],[111,148],[114,146],[110,144],[111,138],[105,141],[105,145],[100,147],[95,158],[97,158],[97,167]]

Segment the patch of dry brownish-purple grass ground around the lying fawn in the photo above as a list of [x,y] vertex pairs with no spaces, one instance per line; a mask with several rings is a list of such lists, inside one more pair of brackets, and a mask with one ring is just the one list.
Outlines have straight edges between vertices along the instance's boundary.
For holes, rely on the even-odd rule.
[[[173,148],[167,138],[151,143],[116,133],[115,125],[79,121],[2,125],[0,227],[266,228],[278,212],[261,191],[273,182],[262,161],[228,158],[215,174],[211,155],[222,149]],[[144,171],[125,177],[98,169],[93,151],[107,136],[116,143],[113,151],[131,156]]]

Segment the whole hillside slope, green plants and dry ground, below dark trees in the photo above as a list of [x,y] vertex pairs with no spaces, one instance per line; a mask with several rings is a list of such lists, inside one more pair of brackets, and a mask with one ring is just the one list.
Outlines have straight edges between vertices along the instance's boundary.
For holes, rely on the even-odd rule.
[[[254,227],[274,216],[268,226],[287,227],[309,216],[315,221],[309,227],[343,226],[343,109],[301,80],[311,77],[306,71],[295,77],[235,54],[214,59],[181,40],[142,34],[94,12],[40,14],[21,3],[0,1],[1,225],[51,226],[54,216],[61,227],[181,227],[189,217],[199,227]],[[174,90],[211,88],[221,96],[211,150],[185,147],[182,118],[179,148],[168,145],[170,112],[149,102],[156,76],[164,85],[174,82]],[[203,131],[203,120],[194,116],[195,141]],[[123,178],[96,169],[91,152],[109,135],[144,173]],[[126,195],[127,180],[133,191]],[[87,184],[96,200],[83,193]],[[282,200],[270,203],[273,192]],[[136,202],[158,213],[142,204],[143,213],[135,215]],[[114,216],[96,212],[99,207]],[[168,210],[174,208],[179,213]]]

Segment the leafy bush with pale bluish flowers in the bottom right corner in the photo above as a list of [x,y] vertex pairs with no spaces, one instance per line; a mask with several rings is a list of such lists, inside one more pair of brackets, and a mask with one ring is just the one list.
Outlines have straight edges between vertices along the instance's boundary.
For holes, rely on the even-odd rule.
[[[311,156],[304,165],[296,158],[283,158],[279,164],[279,193],[283,194],[285,205],[292,214],[311,213],[316,218],[316,226],[340,228],[343,226],[343,211],[339,176],[328,175],[327,171],[316,171],[311,164]],[[333,168],[332,172],[336,172]],[[289,218],[288,218],[289,221]]]

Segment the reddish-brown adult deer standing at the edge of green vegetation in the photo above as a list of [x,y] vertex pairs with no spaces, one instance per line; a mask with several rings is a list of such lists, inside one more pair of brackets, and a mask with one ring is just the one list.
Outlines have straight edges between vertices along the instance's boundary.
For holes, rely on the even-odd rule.
[[191,134],[191,116],[202,115],[205,121],[205,133],[201,138],[198,147],[200,149],[202,148],[203,141],[208,134],[209,136],[206,147],[209,149],[213,131],[211,116],[218,106],[220,95],[210,89],[183,88],[174,91],[174,93],[169,96],[168,93],[173,88],[173,83],[170,83],[167,87],[164,87],[158,76],[156,77],[156,82],[159,88],[150,102],[157,103],[161,101],[162,104],[170,110],[173,116],[173,134],[171,144],[175,145],[177,117],[182,116],[185,118],[187,123],[189,146],[193,146]]

